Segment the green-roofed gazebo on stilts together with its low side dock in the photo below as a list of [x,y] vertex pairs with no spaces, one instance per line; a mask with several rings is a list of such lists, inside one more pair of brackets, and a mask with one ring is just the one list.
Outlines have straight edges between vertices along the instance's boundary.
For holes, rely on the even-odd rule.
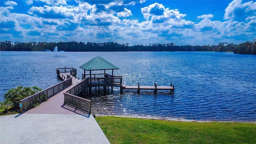
[[[138,83],[137,86],[126,86],[126,84],[123,84],[122,82],[122,76],[113,75],[113,70],[118,69],[118,67],[104,60],[100,56],[86,62],[80,66],[80,68],[84,69],[82,79],[87,79],[88,84],[86,90],[88,88],[89,92],[91,92],[92,87],[98,87],[100,89],[100,86],[102,86],[105,91],[106,87],[111,87],[113,90],[113,87],[117,86],[120,87],[120,93],[122,93],[123,90],[137,90],[138,93],[140,93],[140,90],[154,90],[155,94],[157,93],[157,90],[170,90],[171,93],[174,93],[174,85],[172,85],[172,83],[170,86],[157,86],[156,83],[154,86],[140,86],[140,83]],[[94,70],[104,70],[104,73],[92,74],[92,71]],[[112,74],[107,74],[106,70],[112,70]],[[86,71],[90,71],[90,74],[86,74]]]

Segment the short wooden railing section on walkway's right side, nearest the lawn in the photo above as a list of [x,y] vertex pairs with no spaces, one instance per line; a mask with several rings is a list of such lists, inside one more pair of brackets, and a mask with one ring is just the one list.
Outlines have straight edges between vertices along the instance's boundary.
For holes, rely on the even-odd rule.
[[91,114],[91,101],[64,92],[64,104]]

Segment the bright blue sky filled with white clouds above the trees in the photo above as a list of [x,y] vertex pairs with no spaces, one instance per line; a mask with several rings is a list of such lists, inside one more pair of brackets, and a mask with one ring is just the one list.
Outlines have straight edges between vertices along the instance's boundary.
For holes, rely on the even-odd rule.
[[0,39],[14,42],[239,44],[256,38],[256,1],[0,0]]

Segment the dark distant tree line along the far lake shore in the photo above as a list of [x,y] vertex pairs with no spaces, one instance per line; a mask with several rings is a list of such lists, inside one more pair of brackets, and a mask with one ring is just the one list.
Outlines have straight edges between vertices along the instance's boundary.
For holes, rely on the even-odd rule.
[[53,51],[55,46],[59,51],[66,52],[116,52],[116,51],[216,51],[234,52],[238,54],[256,54],[256,40],[247,41],[240,44],[219,43],[217,46],[177,46],[169,44],[149,44],[129,46],[129,43],[118,44],[117,42],[11,42],[1,41],[1,51]]

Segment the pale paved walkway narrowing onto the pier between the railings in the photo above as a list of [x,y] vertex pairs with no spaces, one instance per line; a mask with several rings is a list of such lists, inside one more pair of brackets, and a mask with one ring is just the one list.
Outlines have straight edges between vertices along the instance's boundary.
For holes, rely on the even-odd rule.
[[56,94],[24,114],[0,116],[0,144],[110,144],[92,115],[64,105]]

